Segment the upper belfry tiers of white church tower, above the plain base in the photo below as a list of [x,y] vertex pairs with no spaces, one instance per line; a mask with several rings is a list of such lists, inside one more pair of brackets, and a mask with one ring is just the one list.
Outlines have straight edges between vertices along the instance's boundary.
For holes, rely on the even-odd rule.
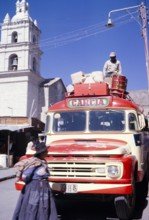
[[[40,30],[29,16],[25,0],[16,2],[16,14],[6,14],[1,30],[0,72],[33,71],[40,75]],[[7,46],[6,46],[7,45]]]

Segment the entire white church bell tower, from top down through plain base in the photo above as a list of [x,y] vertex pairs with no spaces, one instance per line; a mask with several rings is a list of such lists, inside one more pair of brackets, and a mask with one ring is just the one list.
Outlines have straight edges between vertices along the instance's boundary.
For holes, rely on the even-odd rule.
[[[40,30],[29,15],[26,0],[16,1],[16,13],[7,13],[1,25],[0,116],[40,118]],[[10,111],[11,109],[11,111]]]

